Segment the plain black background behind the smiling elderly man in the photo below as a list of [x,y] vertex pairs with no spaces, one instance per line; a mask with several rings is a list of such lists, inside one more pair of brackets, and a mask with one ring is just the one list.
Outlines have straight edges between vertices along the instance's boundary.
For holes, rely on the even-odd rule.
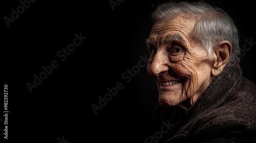
[[[158,95],[146,66],[137,67],[141,56],[148,57],[144,40],[153,26],[154,6],[168,1],[113,2],[120,2],[114,10],[108,0],[37,0],[7,27],[4,17],[11,18],[11,9],[16,11],[21,4],[2,1],[2,77],[8,85],[9,141],[144,142]],[[252,1],[204,2],[231,15],[242,46],[245,39],[256,42]],[[80,33],[87,39],[60,61],[57,52]],[[241,57],[244,76],[254,83],[255,46],[247,44],[251,49]],[[31,93],[26,84],[33,84],[33,75],[39,76],[42,66],[53,60],[59,66]],[[127,81],[122,74],[131,69],[137,73]],[[91,105],[99,105],[99,97],[104,98],[107,88],[118,82],[123,88],[96,115]],[[4,138],[3,122],[0,126]]]

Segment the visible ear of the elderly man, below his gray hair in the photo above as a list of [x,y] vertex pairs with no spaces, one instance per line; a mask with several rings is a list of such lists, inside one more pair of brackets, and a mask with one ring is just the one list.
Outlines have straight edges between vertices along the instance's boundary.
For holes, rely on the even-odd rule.
[[211,68],[212,76],[218,76],[226,66],[232,52],[232,44],[229,41],[221,41],[214,49],[215,62]]

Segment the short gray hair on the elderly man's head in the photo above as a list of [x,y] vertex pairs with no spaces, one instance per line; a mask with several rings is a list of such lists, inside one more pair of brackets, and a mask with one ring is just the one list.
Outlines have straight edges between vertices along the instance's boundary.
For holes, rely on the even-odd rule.
[[193,38],[200,42],[208,55],[215,45],[223,40],[232,44],[232,53],[227,66],[237,66],[240,62],[239,33],[232,18],[221,8],[203,2],[180,2],[160,4],[152,13],[152,20],[175,18],[189,15],[196,19]]

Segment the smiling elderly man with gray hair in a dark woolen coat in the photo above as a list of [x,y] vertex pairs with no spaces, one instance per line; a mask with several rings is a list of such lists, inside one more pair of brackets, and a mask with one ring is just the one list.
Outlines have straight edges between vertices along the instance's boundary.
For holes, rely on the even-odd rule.
[[147,73],[159,106],[146,142],[256,142],[256,85],[242,76],[232,19],[206,3],[152,14]]

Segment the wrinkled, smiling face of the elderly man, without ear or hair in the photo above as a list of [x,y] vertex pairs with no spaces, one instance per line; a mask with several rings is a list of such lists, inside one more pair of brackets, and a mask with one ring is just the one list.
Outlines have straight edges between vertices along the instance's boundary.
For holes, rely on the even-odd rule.
[[194,26],[188,16],[157,21],[147,39],[147,73],[156,81],[159,103],[165,107],[183,101],[193,105],[212,80],[214,60],[191,38]]

